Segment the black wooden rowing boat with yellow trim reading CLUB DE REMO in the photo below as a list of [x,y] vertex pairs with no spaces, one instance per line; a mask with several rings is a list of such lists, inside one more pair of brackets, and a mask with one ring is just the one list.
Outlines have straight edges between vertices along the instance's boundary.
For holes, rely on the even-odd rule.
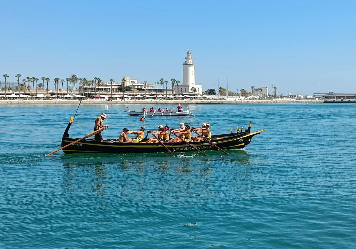
[[[68,131],[72,122],[69,122],[62,137],[62,147],[72,143],[78,138],[70,138]],[[265,129],[251,132],[252,123],[244,132],[230,132],[227,134],[219,134],[211,136],[210,142],[223,149],[242,149],[251,143],[253,136],[260,134]],[[157,153],[166,152],[160,143],[146,143],[147,139],[143,139],[140,143],[122,143],[118,142],[117,138],[108,138],[101,141],[94,141],[94,139],[83,139],[63,149],[66,154],[73,153],[113,153],[113,154],[129,154],[129,153]],[[190,142],[191,145],[199,150],[216,150],[217,148],[207,141]],[[164,143],[166,147],[172,152],[189,152],[194,150],[187,143]]]

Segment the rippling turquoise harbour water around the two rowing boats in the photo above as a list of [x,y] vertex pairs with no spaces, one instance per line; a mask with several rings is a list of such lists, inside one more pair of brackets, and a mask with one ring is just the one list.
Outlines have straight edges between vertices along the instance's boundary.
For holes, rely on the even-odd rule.
[[[45,157],[76,108],[0,106],[0,248],[356,246],[356,105],[189,105],[194,117],[146,119],[267,129],[231,155]],[[122,110],[82,105],[69,134],[90,133],[102,112],[104,138],[138,129]]]

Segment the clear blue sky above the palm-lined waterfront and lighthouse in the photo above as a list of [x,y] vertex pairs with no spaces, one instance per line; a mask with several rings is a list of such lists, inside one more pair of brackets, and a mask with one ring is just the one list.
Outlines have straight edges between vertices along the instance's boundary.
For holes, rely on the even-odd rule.
[[[0,73],[356,92],[356,1],[0,1]],[[3,80],[3,78],[1,78]],[[51,81],[52,82],[52,81]],[[53,83],[52,83],[53,84]]]

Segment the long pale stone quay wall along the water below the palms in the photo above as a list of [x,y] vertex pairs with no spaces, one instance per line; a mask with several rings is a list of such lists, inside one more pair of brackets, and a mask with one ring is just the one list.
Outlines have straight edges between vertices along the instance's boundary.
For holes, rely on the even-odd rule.
[[[83,100],[82,105],[134,105],[134,104],[312,104],[323,103],[324,100]],[[0,105],[71,105],[79,100],[0,100]]]

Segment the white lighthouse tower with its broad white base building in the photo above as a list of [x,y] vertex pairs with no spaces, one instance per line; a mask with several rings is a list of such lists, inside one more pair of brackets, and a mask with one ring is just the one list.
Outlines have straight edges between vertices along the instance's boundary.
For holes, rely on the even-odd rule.
[[[193,93],[192,89],[196,91]],[[188,50],[185,62],[183,62],[183,84],[178,85],[178,94],[202,94],[203,86],[195,85],[195,62],[192,53]]]

